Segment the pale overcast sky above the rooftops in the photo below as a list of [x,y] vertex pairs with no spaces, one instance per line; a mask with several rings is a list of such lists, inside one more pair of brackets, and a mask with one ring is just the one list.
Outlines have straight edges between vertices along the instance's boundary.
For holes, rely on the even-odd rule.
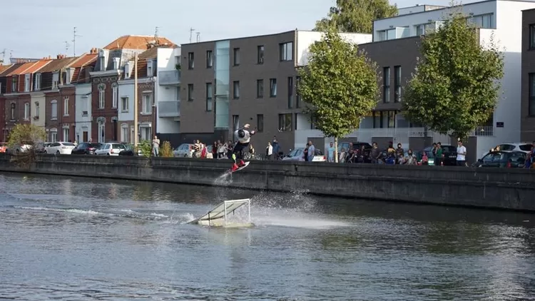
[[[24,0],[2,1],[0,52],[14,57],[41,58],[73,55],[73,27],[76,26],[76,54],[106,46],[127,34],[159,36],[175,44],[240,36],[273,34],[293,29],[310,30],[327,14],[335,0]],[[449,0],[429,3],[447,5]],[[399,0],[398,7],[416,0]],[[1,55],[0,55],[1,56]]]

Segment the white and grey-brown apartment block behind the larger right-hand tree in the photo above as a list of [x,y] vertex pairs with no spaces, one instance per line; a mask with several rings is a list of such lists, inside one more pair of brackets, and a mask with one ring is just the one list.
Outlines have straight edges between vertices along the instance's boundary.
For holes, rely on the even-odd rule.
[[[490,120],[474,129],[467,143],[469,161],[480,158],[499,143],[519,142],[521,125],[521,40],[522,11],[535,8],[532,1],[489,0],[460,7],[479,27],[482,45],[494,38],[504,51],[504,77],[498,104]],[[455,10],[459,8],[454,8]],[[352,140],[402,143],[418,150],[424,146],[424,129],[409,124],[402,115],[403,90],[414,72],[419,54],[419,36],[439,30],[451,8],[434,8],[374,21],[373,42],[361,44],[382,72],[381,97],[372,116],[365,118]],[[526,114],[524,114],[526,115]],[[449,137],[428,133],[432,141],[449,142]],[[319,131],[296,132],[296,144],[305,136],[320,137]],[[327,141],[325,141],[327,143]],[[431,141],[427,139],[429,144]],[[451,141],[454,143],[454,141]]]

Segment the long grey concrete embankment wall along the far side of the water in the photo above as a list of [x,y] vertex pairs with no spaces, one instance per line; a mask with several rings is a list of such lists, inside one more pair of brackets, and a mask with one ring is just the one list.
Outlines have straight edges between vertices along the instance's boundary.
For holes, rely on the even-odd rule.
[[372,200],[464,205],[535,212],[535,172],[525,169],[251,161],[232,179],[216,179],[228,160],[42,155],[29,169],[0,155],[0,171],[306,191]]

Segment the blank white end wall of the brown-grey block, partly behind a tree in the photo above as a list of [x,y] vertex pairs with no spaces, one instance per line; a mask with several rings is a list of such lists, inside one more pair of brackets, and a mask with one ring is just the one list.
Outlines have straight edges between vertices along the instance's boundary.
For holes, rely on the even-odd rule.
[[[295,37],[295,49],[297,51],[297,66],[305,66],[308,63],[309,47],[315,41],[322,39],[323,33],[320,31],[297,31]],[[340,34],[343,39],[355,44],[365,44],[372,41],[371,34]]]

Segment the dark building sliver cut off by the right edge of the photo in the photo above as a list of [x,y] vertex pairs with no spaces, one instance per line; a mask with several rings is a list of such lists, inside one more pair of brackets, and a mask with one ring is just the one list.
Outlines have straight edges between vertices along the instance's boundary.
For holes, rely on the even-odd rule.
[[522,12],[521,141],[535,141],[535,9]]

